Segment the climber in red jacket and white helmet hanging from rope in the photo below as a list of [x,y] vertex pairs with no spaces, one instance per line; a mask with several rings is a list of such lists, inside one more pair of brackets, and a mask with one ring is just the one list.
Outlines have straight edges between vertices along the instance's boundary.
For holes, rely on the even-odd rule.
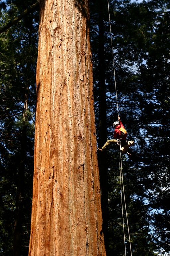
[[123,123],[121,122],[120,117],[118,116],[118,121],[113,123],[113,126],[115,128],[114,131],[114,139],[113,140],[107,140],[107,142],[105,143],[105,145],[102,148],[98,148],[98,150],[100,150],[101,152],[106,150],[107,147],[111,144],[121,144],[121,152],[122,153],[127,153],[128,156],[131,156],[131,154],[128,152],[128,148],[130,146],[134,145],[134,141],[127,141],[127,131],[125,130],[125,127],[123,125]]

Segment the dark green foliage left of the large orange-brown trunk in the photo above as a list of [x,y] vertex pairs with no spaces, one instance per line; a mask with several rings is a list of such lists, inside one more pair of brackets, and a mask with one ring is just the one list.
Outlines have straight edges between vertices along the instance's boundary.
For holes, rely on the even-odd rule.
[[[7,24],[34,1],[5,1],[0,24]],[[19,219],[21,255],[28,255],[32,204],[35,72],[38,45],[38,12],[0,34],[0,254],[12,255],[17,191],[23,202]],[[28,103],[28,107],[25,103]],[[21,220],[23,219],[23,221]]]

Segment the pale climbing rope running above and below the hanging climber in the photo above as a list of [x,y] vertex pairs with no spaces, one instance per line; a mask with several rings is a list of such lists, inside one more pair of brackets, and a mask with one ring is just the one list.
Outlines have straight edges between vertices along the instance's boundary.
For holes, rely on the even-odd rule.
[[[118,117],[119,117],[118,97],[117,97],[117,88],[116,88],[116,76],[115,76],[115,64],[114,64],[114,54],[113,54],[113,42],[112,42],[112,30],[111,30],[110,10],[109,10],[109,0],[108,0],[108,11],[109,11],[109,24],[110,24],[110,35],[111,35],[111,45],[112,45],[112,57],[113,57],[113,70],[114,70],[114,81],[115,81],[115,91],[116,91],[117,112],[118,112]],[[128,237],[129,237],[129,245],[130,245],[130,255],[132,256],[132,252],[131,252],[131,243],[130,243],[130,233],[129,233],[129,226],[128,226],[128,214],[127,214],[127,208],[126,208],[125,190],[124,190],[124,181],[123,181],[121,142],[120,142],[120,161],[119,161],[119,168],[120,168],[121,202],[122,202],[122,218],[123,218],[123,229],[124,229],[125,256],[126,256],[126,239],[125,239],[125,225],[124,225],[124,212],[123,212],[123,195],[122,195],[122,190],[123,190],[123,194],[124,194],[124,203],[125,203],[125,211],[126,211],[126,219],[127,219],[127,227],[128,227]]]

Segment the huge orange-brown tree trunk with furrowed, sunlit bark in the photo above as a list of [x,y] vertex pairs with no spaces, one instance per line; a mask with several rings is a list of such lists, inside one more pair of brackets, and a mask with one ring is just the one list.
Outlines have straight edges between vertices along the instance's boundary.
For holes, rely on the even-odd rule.
[[88,1],[41,1],[29,255],[106,255]]

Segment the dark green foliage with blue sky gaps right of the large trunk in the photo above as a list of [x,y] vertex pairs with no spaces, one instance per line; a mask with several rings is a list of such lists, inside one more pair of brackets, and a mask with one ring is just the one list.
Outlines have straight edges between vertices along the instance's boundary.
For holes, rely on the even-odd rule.
[[[169,248],[169,43],[168,1],[109,1],[119,115],[135,140],[132,160],[123,156],[124,185],[132,255],[168,255]],[[94,5],[95,6],[95,5]],[[117,120],[109,17],[103,3],[107,127],[113,138]],[[91,12],[93,5],[91,7]],[[100,84],[97,40],[99,21],[92,13],[94,92],[98,131]],[[101,122],[101,120],[100,120]],[[99,138],[101,140],[101,138]],[[119,157],[108,152],[109,250],[124,255]],[[126,216],[124,216],[126,218]],[[129,252],[126,229],[127,253]]]

